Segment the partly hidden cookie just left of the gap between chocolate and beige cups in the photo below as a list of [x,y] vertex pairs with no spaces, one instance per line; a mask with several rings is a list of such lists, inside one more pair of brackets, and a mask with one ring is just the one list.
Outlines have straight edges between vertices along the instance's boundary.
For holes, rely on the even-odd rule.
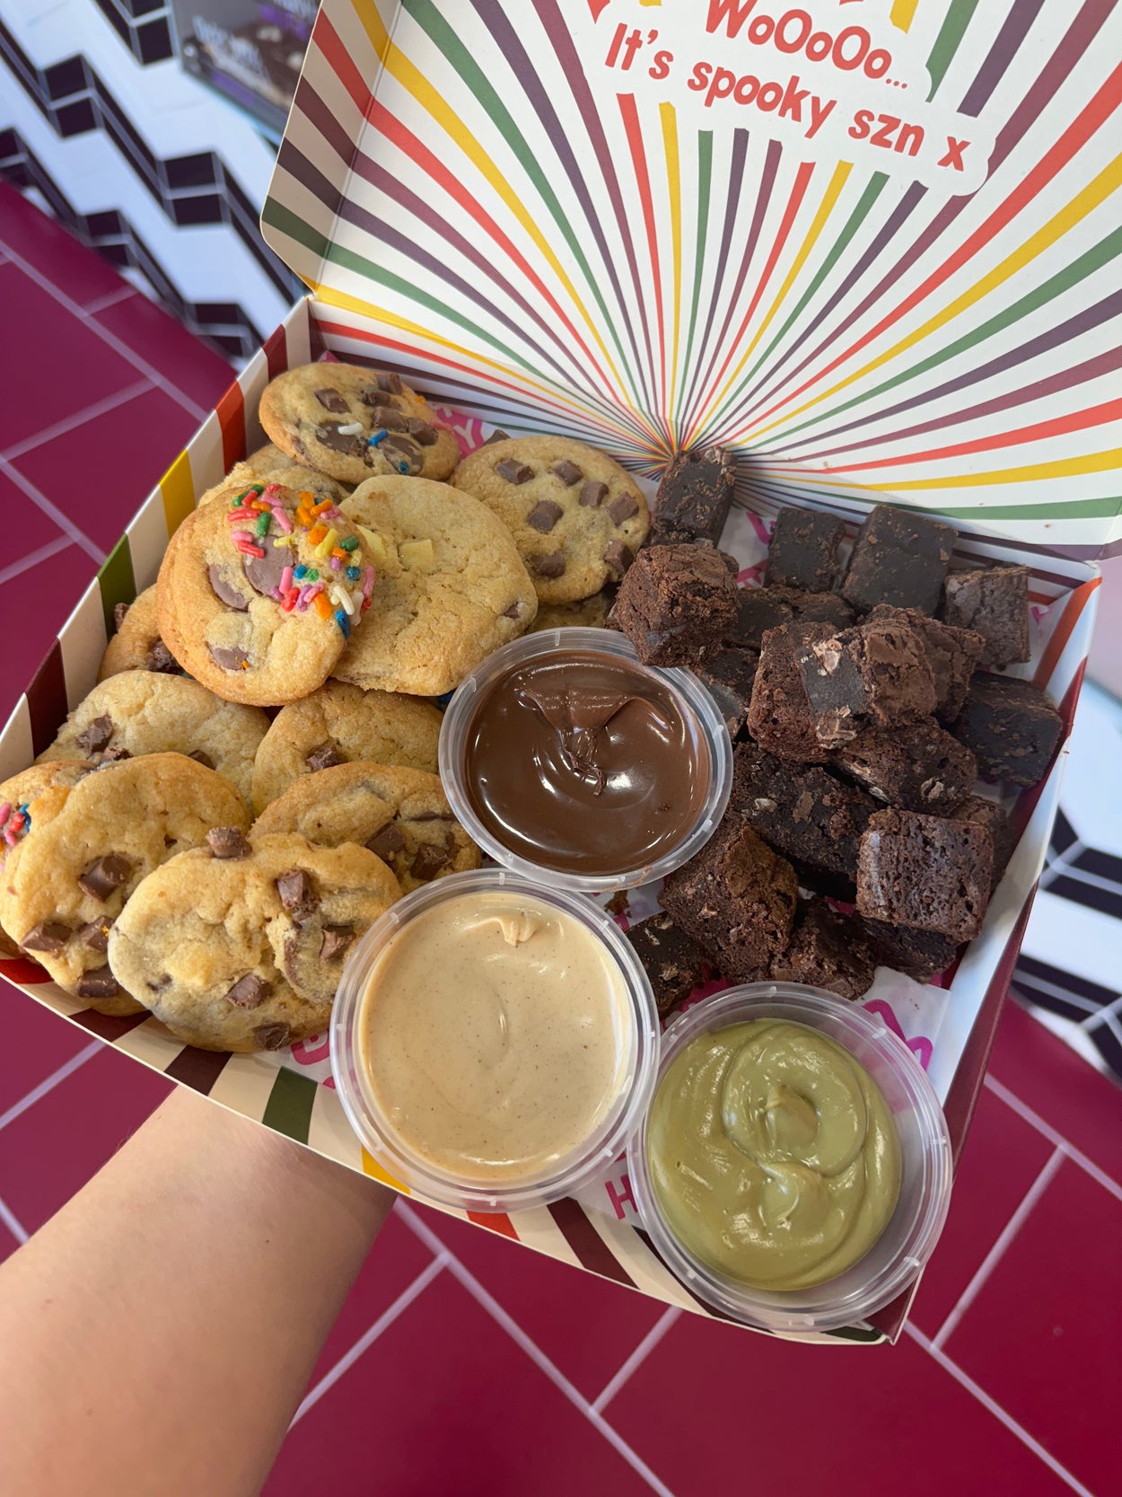
[[438,775],[384,763],[340,763],[301,775],[253,823],[254,837],[272,832],[298,832],[317,847],[361,843],[405,894],[483,861]]

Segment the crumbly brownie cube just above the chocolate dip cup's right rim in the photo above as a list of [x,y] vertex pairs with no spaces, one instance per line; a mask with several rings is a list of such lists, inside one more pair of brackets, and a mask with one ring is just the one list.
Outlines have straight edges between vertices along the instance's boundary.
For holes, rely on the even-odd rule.
[[646,546],[613,618],[645,665],[697,665],[736,623],[736,582],[711,546]]

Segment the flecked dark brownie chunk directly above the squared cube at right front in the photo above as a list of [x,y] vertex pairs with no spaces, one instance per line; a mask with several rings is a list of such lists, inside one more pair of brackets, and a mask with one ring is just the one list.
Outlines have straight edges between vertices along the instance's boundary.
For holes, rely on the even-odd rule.
[[859,734],[833,762],[878,801],[932,816],[950,816],[978,777],[969,748],[931,717]]

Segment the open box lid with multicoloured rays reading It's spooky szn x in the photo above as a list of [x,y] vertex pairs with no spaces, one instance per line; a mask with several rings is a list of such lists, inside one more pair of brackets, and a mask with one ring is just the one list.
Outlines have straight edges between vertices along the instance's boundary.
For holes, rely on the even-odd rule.
[[1095,557],[1121,52],[1097,0],[325,0],[262,228],[512,428]]

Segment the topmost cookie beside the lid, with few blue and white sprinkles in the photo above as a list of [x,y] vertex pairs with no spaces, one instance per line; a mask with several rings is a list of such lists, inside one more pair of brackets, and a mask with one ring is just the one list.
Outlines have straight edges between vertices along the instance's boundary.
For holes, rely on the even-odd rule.
[[459,443],[398,374],[356,364],[304,364],[260,398],[260,424],[281,452],[343,484],[378,473],[447,478]]

